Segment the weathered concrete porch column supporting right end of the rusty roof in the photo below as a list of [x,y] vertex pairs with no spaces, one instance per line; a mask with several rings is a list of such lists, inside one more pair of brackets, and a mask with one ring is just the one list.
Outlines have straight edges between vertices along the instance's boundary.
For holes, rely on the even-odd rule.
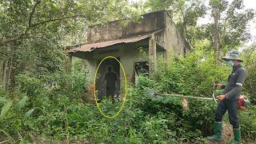
[[150,36],[149,39],[149,58],[150,58],[150,77],[154,74],[156,70],[156,62],[157,62],[157,50],[156,50],[156,42],[154,40],[154,34]]

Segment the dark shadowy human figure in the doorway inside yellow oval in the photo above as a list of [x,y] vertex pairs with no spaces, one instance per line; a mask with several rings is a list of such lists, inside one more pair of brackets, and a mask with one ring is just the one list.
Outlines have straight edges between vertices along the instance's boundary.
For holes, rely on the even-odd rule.
[[118,88],[118,76],[112,71],[112,67],[107,67],[108,72],[103,78],[103,83],[106,85],[106,96],[112,98],[112,102],[114,102],[114,92]]

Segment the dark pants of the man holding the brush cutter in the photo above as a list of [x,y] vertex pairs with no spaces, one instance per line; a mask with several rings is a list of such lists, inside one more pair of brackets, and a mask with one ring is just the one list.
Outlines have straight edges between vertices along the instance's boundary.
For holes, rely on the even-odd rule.
[[226,113],[229,114],[230,124],[234,128],[239,128],[238,121],[238,106],[237,101],[223,99],[218,103],[217,111],[215,113],[215,122],[222,122],[222,116]]

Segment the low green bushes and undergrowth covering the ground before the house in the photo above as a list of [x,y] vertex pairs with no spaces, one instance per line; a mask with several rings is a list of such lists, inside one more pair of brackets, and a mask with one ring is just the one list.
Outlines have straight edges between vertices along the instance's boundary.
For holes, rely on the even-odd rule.
[[[154,78],[140,77],[136,86],[129,86],[122,114],[105,118],[94,104],[83,102],[86,68],[81,66],[81,62],[74,62],[76,68],[71,74],[56,73],[40,79],[21,74],[14,94],[2,90],[1,98],[12,98],[13,102],[0,121],[1,141],[204,142],[212,132],[214,102],[188,99],[189,110],[184,111],[180,98],[150,98],[143,90],[211,97],[213,82],[225,82],[230,69],[216,62],[214,53],[203,50],[171,65],[159,60]],[[256,138],[255,109],[250,106],[240,112],[244,140]]]

